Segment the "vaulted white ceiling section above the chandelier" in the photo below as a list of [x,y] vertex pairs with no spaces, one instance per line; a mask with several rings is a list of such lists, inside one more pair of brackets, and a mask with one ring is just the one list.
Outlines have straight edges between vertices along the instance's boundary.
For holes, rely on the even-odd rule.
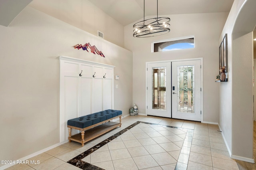
[[[144,0],[89,0],[123,26],[143,18]],[[158,15],[229,12],[234,0],[158,0]],[[145,0],[145,16],[156,16],[157,0]]]

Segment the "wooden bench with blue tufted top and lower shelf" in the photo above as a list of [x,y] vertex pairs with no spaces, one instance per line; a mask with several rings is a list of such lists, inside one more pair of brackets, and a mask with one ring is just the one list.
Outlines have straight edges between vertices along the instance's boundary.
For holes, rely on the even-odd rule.
[[[119,117],[119,123],[111,122],[111,120]],[[108,109],[90,115],[78,117],[68,120],[68,140],[84,143],[116,128],[121,127],[122,111]],[[81,133],[71,136],[71,129],[80,130]]]

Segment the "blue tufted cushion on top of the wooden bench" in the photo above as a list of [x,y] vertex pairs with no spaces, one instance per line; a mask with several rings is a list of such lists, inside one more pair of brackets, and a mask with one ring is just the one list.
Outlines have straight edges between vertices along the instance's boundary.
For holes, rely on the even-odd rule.
[[102,121],[106,121],[118,115],[122,115],[122,111],[108,109],[105,111],[92,113],[90,115],[78,117],[75,119],[70,119],[68,120],[68,125],[78,128],[85,128],[100,123]]

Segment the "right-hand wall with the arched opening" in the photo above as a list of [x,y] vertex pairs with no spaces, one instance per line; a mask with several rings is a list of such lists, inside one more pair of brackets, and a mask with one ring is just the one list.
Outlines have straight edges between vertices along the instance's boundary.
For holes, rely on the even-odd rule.
[[255,0],[234,0],[219,43],[228,34],[228,82],[220,84],[219,125],[232,158],[253,160],[253,35]]

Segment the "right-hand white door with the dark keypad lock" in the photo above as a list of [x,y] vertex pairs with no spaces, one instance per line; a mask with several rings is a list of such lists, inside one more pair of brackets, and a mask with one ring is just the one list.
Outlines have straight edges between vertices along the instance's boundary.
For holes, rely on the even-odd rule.
[[200,60],[172,62],[172,118],[201,121]]

